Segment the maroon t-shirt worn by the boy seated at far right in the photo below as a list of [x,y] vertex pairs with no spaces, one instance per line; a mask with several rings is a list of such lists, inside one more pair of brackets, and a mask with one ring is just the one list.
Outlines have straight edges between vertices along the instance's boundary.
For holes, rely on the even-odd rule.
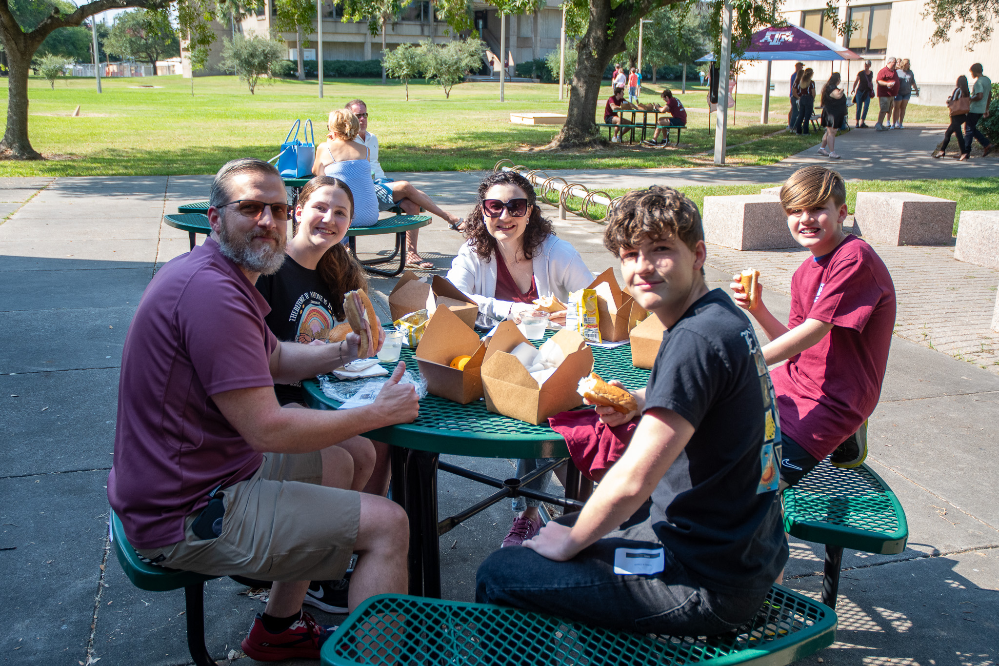
[[895,327],[895,287],[873,249],[850,234],[791,279],[789,328],[832,324],[821,340],[770,370],[780,430],[821,460],[870,416]]

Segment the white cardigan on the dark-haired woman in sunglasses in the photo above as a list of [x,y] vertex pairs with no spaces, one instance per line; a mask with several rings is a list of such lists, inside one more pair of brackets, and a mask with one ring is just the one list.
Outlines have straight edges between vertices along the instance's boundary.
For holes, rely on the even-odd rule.
[[[588,287],[593,282],[593,274],[572,244],[553,235],[534,251],[531,263],[538,296],[555,296],[566,303],[570,292]],[[451,263],[448,280],[479,304],[479,312],[494,320],[506,319],[513,307],[510,301],[494,298],[497,293],[495,258],[480,259],[469,243],[462,246]]]

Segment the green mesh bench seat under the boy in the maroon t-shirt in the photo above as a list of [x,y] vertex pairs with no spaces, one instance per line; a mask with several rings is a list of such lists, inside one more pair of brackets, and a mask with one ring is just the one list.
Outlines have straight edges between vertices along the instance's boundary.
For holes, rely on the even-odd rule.
[[895,493],[866,464],[839,469],[823,460],[784,490],[784,530],[825,544],[822,603],[836,607],[843,548],[893,555],[905,550],[909,525]]

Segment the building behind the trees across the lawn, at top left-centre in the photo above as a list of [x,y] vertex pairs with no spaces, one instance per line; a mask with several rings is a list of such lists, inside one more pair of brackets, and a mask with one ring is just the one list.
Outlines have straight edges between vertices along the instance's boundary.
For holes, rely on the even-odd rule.
[[[559,0],[546,0],[546,5],[533,14],[522,16],[504,16],[506,22],[506,51],[514,63],[520,63],[535,58],[543,58],[549,51],[558,49],[561,33],[561,9]],[[473,2],[475,24],[482,40],[494,53],[500,53],[500,14],[496,7]],[[274,31],[274,2],[260,5],[256,13],[238,22],[236,31],[244,35],[253,33],[269,35]],[[213,24],[216,41],[212,46],[209,65],[204,74],[223,74],[219,62],[221,60],[222,41],[229,39],[233,32],[230,26]],[[297,60],[299,47],[297,35],[294,32],[278,33],[288,44],[289,60]],[[386,48],[393,49],[404,43],[418,44],[425,39],[443,44],[457,39],[455,31],[446,22],[439,20],[433,12],[428,0],[415,0],[408,5],[396,20],[388,24],[386,30]],[[317,59],[318,33],[315,29],[303,36],[304,60]],[[185,52],[186,53],[186,52]],[[334,5],[329,0],[323,3],[323,58],[325,60],[381,60],[382,35],[372,36],[368,22],[344,22],[343,8]],[[199,73],[201,74],[201,73]],[[184,58],[184,76],[191,76],[190,64]]]

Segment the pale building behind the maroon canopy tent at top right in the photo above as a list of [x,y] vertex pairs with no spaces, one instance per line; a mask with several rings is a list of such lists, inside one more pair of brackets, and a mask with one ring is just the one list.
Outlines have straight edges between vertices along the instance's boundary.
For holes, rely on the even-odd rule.
[[[877,73],[889,57],[908,58],[909,67],[919,86],[919,96],[911,103],[943,106],[954,90],[958,76],[969,76],[972,63],[981,63],[985,74],[993,81],[999,80],[999,25],[991,40],[967,50],[968,31],[952,32],[950,41],[932,46],[930,36],[936,29],[932,19],[923,18],[924,0],[896,2],[868,2],[854,0],[847,4],[839,0],[839,18],[852,21],[857,29],[847,41],[837,34],[832,24],[825,20],[823,0],[785,0],[781,13],[788,23],[842,44],[864,60],[871,61],[871,70]],[[857,72],[863,69],[864,60],[806,62],[805,67],[815,71],[816,82],[824,82],[833,72],[839,72],[846,82],[847,92],[853,87]],[[794,63],[774,61],[771,70],[771,95],[787,96]],[[766,63],[743,62],[738,76],[737,91],[762,94],[766,80]]]

